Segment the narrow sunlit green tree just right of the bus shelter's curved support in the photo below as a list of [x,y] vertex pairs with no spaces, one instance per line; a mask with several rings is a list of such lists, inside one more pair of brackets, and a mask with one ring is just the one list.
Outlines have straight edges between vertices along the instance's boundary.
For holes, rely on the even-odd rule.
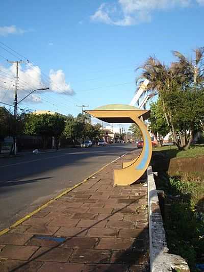
[[149,117],[150,121],[150,131],[155,135],[160,146],[163,144],[164,137],[169,132],[166,119],[162,110],[161,101],[158,100],[156,103],[150,105],[151,115]]

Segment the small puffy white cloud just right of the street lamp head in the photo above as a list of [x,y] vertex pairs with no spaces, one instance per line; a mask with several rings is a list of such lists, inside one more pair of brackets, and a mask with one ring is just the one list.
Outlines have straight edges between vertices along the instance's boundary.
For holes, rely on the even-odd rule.
[[56,91],[58,93],[65,93],[72,95],[74,91],[71,89],[70,84],[67,84],[65,81],[65,74],[63,70],[50,70],[50,90]]

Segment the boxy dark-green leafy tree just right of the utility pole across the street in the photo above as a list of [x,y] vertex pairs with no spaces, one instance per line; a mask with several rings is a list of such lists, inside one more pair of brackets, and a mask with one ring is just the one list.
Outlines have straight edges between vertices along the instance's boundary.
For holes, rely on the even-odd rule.
[[24,133],[40,135],[43,139],[43,148],[46,147],[47,137],[55,136],[58,146],[65,127],[65,118],[59,114],[29,114],[25,121]]

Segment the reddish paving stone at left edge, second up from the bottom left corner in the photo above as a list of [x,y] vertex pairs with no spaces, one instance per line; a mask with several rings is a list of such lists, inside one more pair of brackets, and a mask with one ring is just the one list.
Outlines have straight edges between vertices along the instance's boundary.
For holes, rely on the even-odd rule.
[[0,252],[0,258],[28,260],[37,250],[38,246],[6,245]]

